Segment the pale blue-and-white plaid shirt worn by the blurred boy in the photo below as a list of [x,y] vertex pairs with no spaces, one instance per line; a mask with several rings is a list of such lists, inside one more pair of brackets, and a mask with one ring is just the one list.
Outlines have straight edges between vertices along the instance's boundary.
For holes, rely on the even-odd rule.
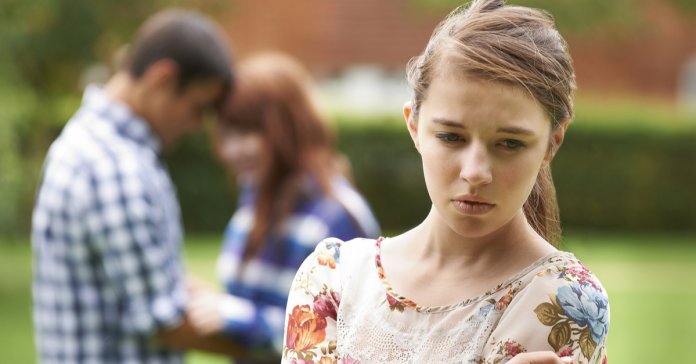
[[41,363],[180,363],[179,205],[148,124],[96,86],[51,146],[32,221]]

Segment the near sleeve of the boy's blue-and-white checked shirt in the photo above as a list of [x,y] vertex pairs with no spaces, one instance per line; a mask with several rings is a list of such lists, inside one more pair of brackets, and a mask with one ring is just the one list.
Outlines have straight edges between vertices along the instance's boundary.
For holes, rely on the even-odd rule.
[[[173,190],[158,190],[136,172],[101,168],[90,181],[85,220],[100,260],[95,263],[123,308],[115,319],[135,334],[171,328],[180,323],[186,301],[178,213],[168,211],[176,203]],[[168,192],[171,199],[164,201]]]

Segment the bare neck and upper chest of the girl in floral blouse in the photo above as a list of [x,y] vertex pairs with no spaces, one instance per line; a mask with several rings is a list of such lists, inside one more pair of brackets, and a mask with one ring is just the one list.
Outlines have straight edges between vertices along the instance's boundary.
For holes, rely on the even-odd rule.
[[555,251],[522,211],[485,236],[464,233],[451,229],[433,209],[416,228],[384,241],[382,267],[396,292],[424,306],[458,303]]

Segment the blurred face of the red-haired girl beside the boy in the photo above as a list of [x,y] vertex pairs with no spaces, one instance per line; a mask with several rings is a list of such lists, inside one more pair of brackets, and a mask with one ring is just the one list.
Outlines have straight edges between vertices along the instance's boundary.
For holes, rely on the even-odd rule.
[[218,123],[215,148],[222,163],[240,184],[258,185],[271,168],[268,143],[258,130],[241,130]]

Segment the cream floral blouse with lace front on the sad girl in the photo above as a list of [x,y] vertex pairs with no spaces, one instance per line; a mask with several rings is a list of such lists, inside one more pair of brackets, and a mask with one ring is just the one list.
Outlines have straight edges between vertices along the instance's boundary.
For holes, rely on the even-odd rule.
[[606,363],[607,295],[573,254],[540,258],[478,297],[424,307],[391,288],[383,240],[325,239],[305,260],[282,363],[505,363],[539,350]]

